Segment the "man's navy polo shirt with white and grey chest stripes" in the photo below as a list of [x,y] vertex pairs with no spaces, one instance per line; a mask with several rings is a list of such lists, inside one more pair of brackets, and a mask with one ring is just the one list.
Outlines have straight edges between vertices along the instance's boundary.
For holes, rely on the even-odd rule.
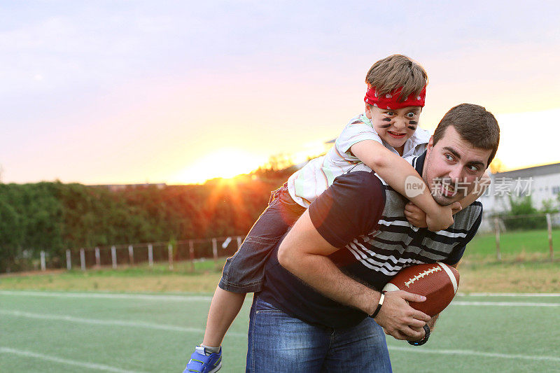
[[[422,174],[425,153],[408,160]],[[316,230],[340,248],[330,258],[343,272],[380,290],[404,267],[437,261],[453,265],[461,259],[480,225],[482,204],[456,213],[446,230],[414,227],[404,215],[408,200],[364,167],[336,178],[309,206]],[[330,328],[357,325],[367,317],[302,283],[279,265],[277,248],[267,262],[259,296],[286,314]]]

